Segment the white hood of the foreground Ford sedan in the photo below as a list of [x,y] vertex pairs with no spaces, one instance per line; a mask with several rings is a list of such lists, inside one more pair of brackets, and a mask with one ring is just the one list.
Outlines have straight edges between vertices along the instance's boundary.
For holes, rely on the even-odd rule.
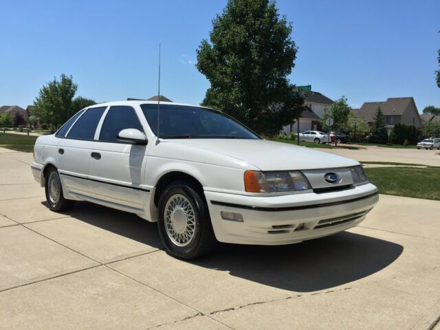
[[[267,140],[188,139],[164,142],[160,144],[168,144],[168,151],[170,148],[173,149],[171,144],[176,147],[178,152],[173,154],[178,159],[220,166],[243,168],[249,164],[261,170],[300,170],[359,164],[353,159],[316,151],[313,148]],[[213,157],[213,154],[220,157]]]

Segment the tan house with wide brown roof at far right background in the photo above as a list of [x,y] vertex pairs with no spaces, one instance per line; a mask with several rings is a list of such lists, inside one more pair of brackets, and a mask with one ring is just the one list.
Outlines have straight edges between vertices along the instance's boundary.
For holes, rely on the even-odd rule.
[[384,113],[388,133],[397,123],[414,125],[416,129],[421,129],[422,121],[412,97],[388,98],[384,102],[365,102],[358,111],[353,111],[353,113],[358,118],[372,123],[377,108]]

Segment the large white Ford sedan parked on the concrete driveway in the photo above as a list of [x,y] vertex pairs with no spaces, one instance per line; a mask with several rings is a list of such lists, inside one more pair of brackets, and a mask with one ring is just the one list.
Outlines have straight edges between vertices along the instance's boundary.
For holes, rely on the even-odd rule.
[[[56,212],[90,201],[157,221],[170,254],[217,243],[281,245],[358,225],[377,188],[352,159],[263,140],[230,116],[162,102],[96,104],[34,147]],[[158,143],[159,142],[159,143]],[[124,219],[121,219],[124,221]]]

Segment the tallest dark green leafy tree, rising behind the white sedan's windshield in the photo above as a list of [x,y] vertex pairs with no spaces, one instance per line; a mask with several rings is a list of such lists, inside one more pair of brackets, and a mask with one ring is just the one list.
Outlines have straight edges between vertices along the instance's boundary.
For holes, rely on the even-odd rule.
[[202,105],[232,115],[254,131],[274,135],[300,115],[287,75],[297,47],[292,23],[274,1],[229,0],[201,41],[196,67],[210,81]]

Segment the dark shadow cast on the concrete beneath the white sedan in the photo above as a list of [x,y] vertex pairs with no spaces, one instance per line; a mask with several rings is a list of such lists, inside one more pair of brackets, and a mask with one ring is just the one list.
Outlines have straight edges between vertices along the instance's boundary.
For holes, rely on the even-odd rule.
[[[129,239],[163,249],[155,223],[93,203],[78,202],[73,216]],[[203,259],[189,261],[231,276],[294,292],[344,285],[393,263],[404,247],[362,234],[340,232],[322,239],[280,246],[221,244]],[[169,256],[172,258],[172,256]]]

